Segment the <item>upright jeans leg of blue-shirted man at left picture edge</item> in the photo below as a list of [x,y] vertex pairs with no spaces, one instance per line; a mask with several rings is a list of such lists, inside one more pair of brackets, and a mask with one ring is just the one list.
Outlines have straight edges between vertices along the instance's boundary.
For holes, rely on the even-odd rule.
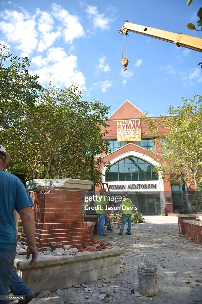
[[[8,290],[12,280],[13,263],[15,251],[0,251],[0,295],[8,295]],[[1,304],[7,304],[9,300],[2,300]]]

